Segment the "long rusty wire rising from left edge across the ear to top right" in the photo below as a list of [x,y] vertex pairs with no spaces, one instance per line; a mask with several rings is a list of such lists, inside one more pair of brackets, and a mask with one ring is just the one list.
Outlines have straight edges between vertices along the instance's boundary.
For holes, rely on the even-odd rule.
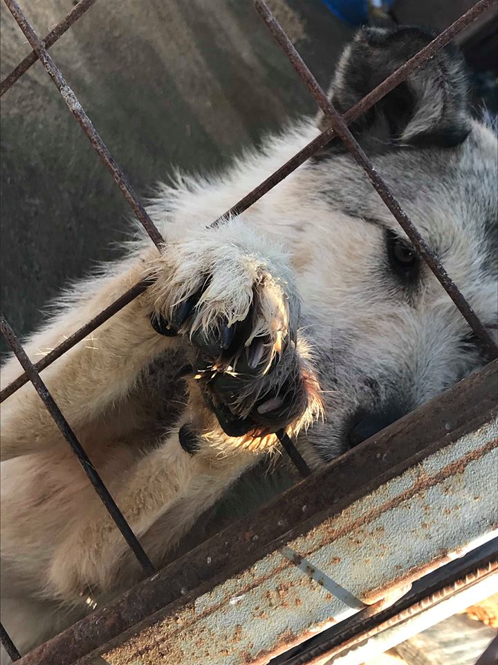
[[[397,85],[403,82],[413,71],[421,66],[428,60],[430,57],[435,55],[438,51],[441,50],[444,46],[449,44],[449,42],[454,39],[456,35],[461,33],[462,30],[468,28],[472,21],[475,21],[481,13],[490,7],[492,4],[496,3],[496,0],[479,0],[468,12],[465,12],[459,19],[454,21],[448,28],[443,30],[437,37],[435,37],[430,44],[424,46],[421,51],[418,51],[416,55],[411,57],[405,64],[396,69],[390,76],[388,76],[382,83],[380,83],[374,90],[369,92],[362,100],[360,100],[356,105],[351,107],[347,113],[344,114],[344,122],[348,125],[358,120],[358,118],[367,112],[371,107],[374,106],[379,100],[381,100],[385,95],[387,95],[391,90],[393,90]],[[312,157],[315,152],[324,148],[327,143],[337,139],[338,136],[335,134],[335,131],[332,127],[326,129],[322,134],[317,136],[313,141],[310,141],[307,145],[299,150],[294,157],[291,157],[284,165],[279,169],[273,172],[266,180],[261,182],[255,189],[248,193],[245,197],[239,200],[234,206],[232,206],[228,211],[220,215],[214,222],[212,222],[212,227],[216,227],[219,224],[222,224],[230,215],[239,215],[246,211],[253,203],[259,200],[267,192],[269,192],[273,187],[275,187],[279,182],[284,180],[288,175],[290,175],[296,168],[301,166],[309,157]],[[142,293],[140,290],[140,284],[137,284],[133,288],[137,288],[137,295]],[[127,292],[127,294],[129,294]],[[129,300],[127,300],[127,294],[123,294],[118,298],[112,305],[101,312],[102,316],[99,314],[98,317],[95,317],[93,321],[97,321],[94,326],[91,326],[91,322],[77,330],[71,337],[59,344],[52,352],[50,352],[46,357],[40,360],[37,363],[37,369],[44,369],[51,362],[57,360],[65,351],[69,348],[80,342],[86,335],[89,335],[90,332],[93,332],[95,328],[107,321],[115,312],[117,312],[121,307],[127,305]],[[114,308],[116,306],[116,308]],[[106,314],[107,312],[107,314]],[[71,339],[71,342],[69,341]],[[41,366],[40,364],[43,365]],[[3,391],[0,393],[0,402],[6,399],[8,396],[12,395],[17,389],[23,386],[28,382],[28,377],[26,374],[20,375],[15,381],[9,384]]]

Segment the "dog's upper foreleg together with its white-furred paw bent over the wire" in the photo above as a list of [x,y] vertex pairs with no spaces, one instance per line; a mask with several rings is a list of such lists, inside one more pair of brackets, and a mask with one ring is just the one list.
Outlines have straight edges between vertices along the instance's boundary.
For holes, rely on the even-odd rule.
[[[176,233],[181,235],[181,231]],[[284,354],[286,348],[295,348],[298,316],[288,260],[282,249],[256,236],[238,220],[220,229],[191,232],[186,240],[176,240],[172,233],[162,253],[149,250],[124,274],[86,283],[80,289],[81,304],[35,336],[27,345],[28,354],[34,357],[36,349],[55,346],[131,285],[152,276],[154,283],[145,293],[42,373],[68,423],[76,434],[84,433],[84,428],[98,434],[99,418],[109,405],[125,400],[140,371],[154,356],[179,343],[179,337],[154,330],[150,321],[153,312],[159,324],[164,317],[190,339],[202,356],[196,362],[224,355],[225,360],[238,363],[242,369],[238,387],[234,385],[237,382],[229,381],[227,389],[225,379],[217,377],[210,384],[212,390],[205,392],[210,393],[214,410],[223,417],[220,405],[226,394],[223,397],[221,393],[231,398],[237,391],[238,405],[232,405],[232,411],[238,409],[247,417],[257,398],[276,397],[273,393],[297,369],[296,362],[289,364],[293,353]],[[279,367],[270,375],[269,366],[278,359]],[[12,359],[3,369],[5,382],[15,378],[16,366],[17,360]],[[208,372],[215,366],[211,362]],[[253,380],[263,374],[260,380]],[[250,380],[240,382],[245,376]],[[303,396],[300,391],[299,408],[304,406]],[[270,402],[270,406],[281,402]],[[287,402],[297,405],[299,399],[295,396]],[[263,421],[268,420],[268,405],[265,408],[259,409],[258,418]],[[229,416],[226,410],[225,415]],[[30,384],[3,402],[1,425],[1,459],[64,443]]]

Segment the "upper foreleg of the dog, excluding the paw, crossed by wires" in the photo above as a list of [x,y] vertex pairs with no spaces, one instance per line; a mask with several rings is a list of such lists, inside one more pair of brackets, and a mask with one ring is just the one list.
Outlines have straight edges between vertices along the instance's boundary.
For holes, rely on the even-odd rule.
[[[147,251],[141,258],[124,262],[118,276],[79,285],[74,305],[25,345],[33,362],[145,278],[158,256],[158,251]],[[98,432],[99,418],[109,405],[127,398],[140,371],[154,356],[178,344],[178,337],[159,335],[151,326],[153,307],[147,292],[138,296],[42,372],[42,380],[77,436],[89,426]],[[12,358],[2,368],[3,384],[20,371],[19,362]],[[66,443],[28,383],[1,405],[1,459],[46,452],[54,445]]]

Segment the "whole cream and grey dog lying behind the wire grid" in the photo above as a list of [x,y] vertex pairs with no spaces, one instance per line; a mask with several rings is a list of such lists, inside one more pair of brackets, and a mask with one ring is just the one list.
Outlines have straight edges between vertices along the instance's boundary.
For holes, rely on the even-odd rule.
[[[347,111],[429,40],[362,28],[338,62],[335,107]],[[351,131],[492,331],[497,137],[474,115],[462,57],[447,48]],[[324,127],[305,118],[215,179],[158,186],[148,212],[165,246],[137,232],[126,258],[68,290],[24,345],[32,358],[54,348],[149,279],[42,378],[157,567],[199,538],[239,479],[293,481],[276,432],[316,468],[486,362],[339,141],[208,228]],[[11,359],[3,384],[17,375]],[[142,572],[30,384],[3,403],[1,456],[2,621],[24,653]]]

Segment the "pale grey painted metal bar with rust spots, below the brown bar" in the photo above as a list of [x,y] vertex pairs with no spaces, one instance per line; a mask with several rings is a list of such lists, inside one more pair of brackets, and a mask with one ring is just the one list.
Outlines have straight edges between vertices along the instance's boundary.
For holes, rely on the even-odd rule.
[[[142,665],[263,665],[351,617],[360,601],[370,605],[366,613],[376,614],[410,583],[493,533],[498,511],[488,470],[498,461],[497,435],[492,418],[408,463],[391,480],[364,487],[340,513],[324,511],[313,525],[302,524],[299,535],[291,529],[243,571],[221,577],[216,569],[210,587],[157,612],[98,655],[114,663],[140,659]],[[324,492],[313,477],[308,481]],[[286,499],[288,493],[281,497]],[[306,514],[302,499],[300,507]],[[274,519],[273,508],[263,509],[267,521]],[[245,525],[238,526],[246,533]],[[217,538],[232,545],[224,532]]]

